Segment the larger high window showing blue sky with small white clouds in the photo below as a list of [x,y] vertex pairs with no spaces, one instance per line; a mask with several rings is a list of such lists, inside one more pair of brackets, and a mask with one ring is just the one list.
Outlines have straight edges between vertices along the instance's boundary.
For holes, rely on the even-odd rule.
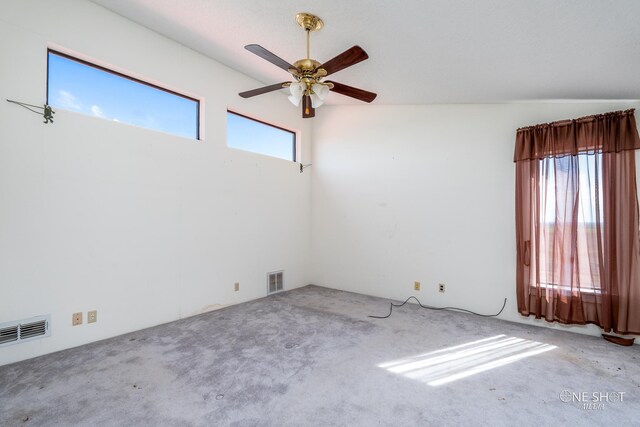
[[55,108],[198,139],[198,101],[51,51],[47,99]]

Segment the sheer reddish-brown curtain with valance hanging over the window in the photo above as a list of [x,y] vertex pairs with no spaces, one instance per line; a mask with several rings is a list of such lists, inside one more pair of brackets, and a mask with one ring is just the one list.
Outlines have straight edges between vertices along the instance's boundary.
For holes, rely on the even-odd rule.
[[640,334],[634,110],[516,134],[518,310]]

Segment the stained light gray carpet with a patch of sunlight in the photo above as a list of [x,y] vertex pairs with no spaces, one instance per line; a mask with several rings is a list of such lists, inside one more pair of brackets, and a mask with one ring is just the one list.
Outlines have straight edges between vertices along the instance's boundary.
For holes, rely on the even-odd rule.
[[367,317],[388,306],[307,286],[3,366],[0,425],[640,425],[639,346],[413,304]]

